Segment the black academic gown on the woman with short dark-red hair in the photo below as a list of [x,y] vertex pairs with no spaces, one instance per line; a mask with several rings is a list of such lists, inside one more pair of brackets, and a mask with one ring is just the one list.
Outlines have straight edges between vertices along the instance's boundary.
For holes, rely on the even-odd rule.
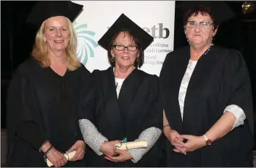
[[178,92],[189,59],[189,46],[169,53],[160,74],[162,100],[170,127],[181,135],[204,135],[231,104],[240,106],[247,119],[244,125],[234,128],[211,146],[186,156],[175,153],[166,140],[167,166],[252,167],[252,93],[243,57],[238,51],[212,46],[198,60],[186,91],[182,121]]

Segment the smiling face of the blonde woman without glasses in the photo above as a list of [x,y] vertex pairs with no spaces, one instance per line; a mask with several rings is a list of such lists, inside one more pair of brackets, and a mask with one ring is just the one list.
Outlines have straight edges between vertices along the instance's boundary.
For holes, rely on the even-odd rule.
[[70,30],[66,17],[50,17],[44,25],[44,41],[52,51],[64,51],[69,41]]

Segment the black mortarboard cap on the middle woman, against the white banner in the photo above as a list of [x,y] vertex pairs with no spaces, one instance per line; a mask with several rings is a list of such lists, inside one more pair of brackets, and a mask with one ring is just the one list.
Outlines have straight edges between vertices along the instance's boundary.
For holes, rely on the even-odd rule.
[[130,30],[131,33],[133,33],[133,35],[136,36],[136,38],[138,38],[143,44],[143,51],[150,43],[152,43],[152,41],[154,41],[154,38],[149,35],[149,33],[146,33],[146,31],[140,28],[139,25],[136,25],[135,22],[126,17],[125,14],[121,14],[102,38],[99,39],[99,45],[107,50],[113,35],[120,32],[120,30]]

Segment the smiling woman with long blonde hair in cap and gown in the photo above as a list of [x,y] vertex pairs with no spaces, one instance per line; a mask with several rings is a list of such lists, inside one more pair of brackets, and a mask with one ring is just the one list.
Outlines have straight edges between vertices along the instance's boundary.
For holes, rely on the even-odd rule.
[[[86,165],[77,110],[91,74],[76,59],[71,22],[82,8],[71,1],[40,1],[28,16],[38,32],[33,56],[17,67],[9,85],[8,167],[47,167],[44,156],[55,167]],[[73,150],[67,162],[63,153]]]

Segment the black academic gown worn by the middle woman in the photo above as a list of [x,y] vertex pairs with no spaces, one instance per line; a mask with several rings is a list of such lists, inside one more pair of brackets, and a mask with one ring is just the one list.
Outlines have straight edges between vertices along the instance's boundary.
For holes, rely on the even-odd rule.
[[[162,107],[156,75],[133,70],[124,80],[119,98],[113,68],[92,73],[91,93],[82,102],[84,119],[90,120],[108,140],[133,141],[149,127],[162,128]],[[157,167],[160,161],[160,139],[137,163],[115,163],[86,148],[88,167]]]

